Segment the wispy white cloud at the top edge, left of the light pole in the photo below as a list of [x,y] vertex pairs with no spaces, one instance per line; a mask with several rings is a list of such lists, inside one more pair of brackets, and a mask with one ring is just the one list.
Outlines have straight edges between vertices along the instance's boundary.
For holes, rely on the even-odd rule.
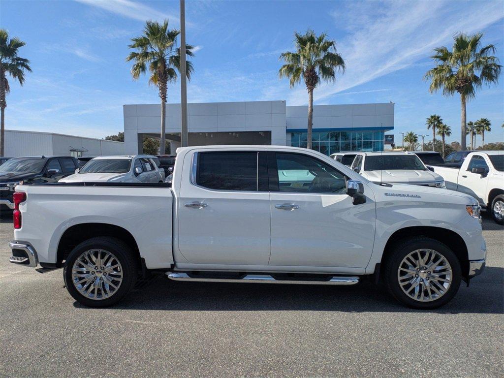
[[87,4],[91,7],[103,9],[115,13],[116,15],[131,18],[133,20],[164,20],[179,22],[178,17],[159,12],[145,4],[133,2],[131,0],[75,0],[79,3]]

